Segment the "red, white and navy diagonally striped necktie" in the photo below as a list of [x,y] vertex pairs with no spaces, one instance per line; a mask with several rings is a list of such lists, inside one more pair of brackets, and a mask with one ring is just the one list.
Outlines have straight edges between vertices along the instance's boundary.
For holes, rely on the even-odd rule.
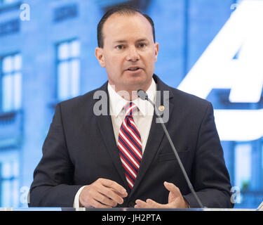
[[126,117],[119,131],[118,148],[128,186],[132,189],[142,161],[142,140],[133,120],[137,106],[130,102],[125,105],[124,110]]

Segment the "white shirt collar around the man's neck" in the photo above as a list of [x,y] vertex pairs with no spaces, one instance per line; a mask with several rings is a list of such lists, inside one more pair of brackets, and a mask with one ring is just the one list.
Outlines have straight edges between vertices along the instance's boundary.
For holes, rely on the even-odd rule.
[[[111,115],[114,115],[115,117],[118,117],[123,110],[124,105],[128,103],[126,99],[122,98],[119,94],[116,93],[114,90],[114,87],[111,86],[108,82],[107,86],[108,92],[109,92],[109,109]],[[149,89],[146,91],[148,98],[155,102],[156,98],[156,83],[154,82],[154,79],[151,80],[151,85],[149,86]],[[133,103],[137,106],[137,108],[140,110],[140,114],[143,116],[147,115],[153,115],[153,106],[148,101],[143,101],[140,98],[136,98]]]

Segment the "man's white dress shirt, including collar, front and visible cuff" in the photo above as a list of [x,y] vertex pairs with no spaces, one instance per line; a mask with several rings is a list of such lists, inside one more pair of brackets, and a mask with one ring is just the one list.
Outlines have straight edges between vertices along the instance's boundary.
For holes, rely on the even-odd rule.
[[[122,98],[116,91],[114,90],[114,86],[111,86],[108,83],[107,86],[109,92],[109,113],[112,117],[112,126],[114,130],[114,136],[116,140],[116,145],[118,146],[119,139],[119,129],[121,124],[125,118],[124,106],[128,103],[124,98]],[[146,91],[148,98],[155,102],[156,99],[156,83],[154,79],[151,81],[151,85],[149,89]],[[149,131],[151,129],[151,121],[154,115],[154,107],[148,101],[143,101],[140,98],[136,98],[133,103],[137,106],[138,110],[135,111],[133,115],[133,120],[137,126],[138,131],[140,132],[141,140],[142,140],[142,155],[144,153],[144,149],[147,143],[147,139],[149,136]],[[73,207],[79,207],[79,195],[82,189],[85,186],[81,187],[79,191],[76,193],[74,198]]]

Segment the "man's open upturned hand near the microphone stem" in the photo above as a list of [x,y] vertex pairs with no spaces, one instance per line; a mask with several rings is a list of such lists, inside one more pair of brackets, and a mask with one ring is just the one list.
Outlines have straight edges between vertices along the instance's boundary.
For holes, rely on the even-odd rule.
[[164,182],[164,186],[170,191],[168,196],[168,204],[159,204],[154,200],[147,199],[146,202],[142,200],[136,200],[135,208],[188,208],[189,205],[186,200],[182,197],[182,194],[174,184]]

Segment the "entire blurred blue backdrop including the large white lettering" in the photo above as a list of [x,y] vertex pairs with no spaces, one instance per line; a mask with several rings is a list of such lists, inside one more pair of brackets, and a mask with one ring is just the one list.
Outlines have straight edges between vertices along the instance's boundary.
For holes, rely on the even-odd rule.
[[107,81],[97,23],[131,4],[153,18],[156,75],[213,103],[238,208],[263,201],[263,2],[0,0],[0,207],[27,207],[60,101]]

